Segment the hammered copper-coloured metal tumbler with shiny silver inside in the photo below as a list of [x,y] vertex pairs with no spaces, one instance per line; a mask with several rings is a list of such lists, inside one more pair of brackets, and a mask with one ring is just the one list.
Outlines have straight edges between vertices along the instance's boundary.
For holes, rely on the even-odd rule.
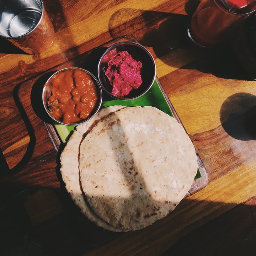
[[0,36],[29,54],[50,47],[54,28],[42,0],[1,0]]

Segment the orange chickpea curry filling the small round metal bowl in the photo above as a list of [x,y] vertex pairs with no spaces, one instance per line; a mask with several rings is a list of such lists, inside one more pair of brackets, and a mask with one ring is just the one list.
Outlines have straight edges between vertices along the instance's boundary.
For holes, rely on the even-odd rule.
[[52,79],[48,107],[55,119],[67,124],[78,123],[90,116],[97,101],[91,76],[80,69],[64,69]]

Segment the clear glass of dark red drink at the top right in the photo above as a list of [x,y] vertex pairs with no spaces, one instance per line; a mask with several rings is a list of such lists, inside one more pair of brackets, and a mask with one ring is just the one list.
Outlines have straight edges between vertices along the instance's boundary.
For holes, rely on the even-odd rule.
[[256,0],[201,0],[187,32],[201,47],[214,47],[256,11]]

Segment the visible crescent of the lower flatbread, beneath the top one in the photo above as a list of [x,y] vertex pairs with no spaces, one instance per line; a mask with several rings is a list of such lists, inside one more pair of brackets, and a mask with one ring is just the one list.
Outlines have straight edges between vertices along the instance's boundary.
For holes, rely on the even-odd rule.
[[98,226],[111,231],[123,231],[113,228],[111,225],[100,219],[90,208],[86,202],[86,198],[81,189],[80,176],[79,176],[79,147],[85,135],[95,126],[95,124],[102,118],[108,116],[114,111],[118,111],[123,106],[111,106],[101,109],[96,116],[88,122],[76,126],[73,134],[65,145],[64,150],[60,155],[61,168],[63,181],[66,190],[69,192],[74,203],[81,209],[81,212],[92,222]]

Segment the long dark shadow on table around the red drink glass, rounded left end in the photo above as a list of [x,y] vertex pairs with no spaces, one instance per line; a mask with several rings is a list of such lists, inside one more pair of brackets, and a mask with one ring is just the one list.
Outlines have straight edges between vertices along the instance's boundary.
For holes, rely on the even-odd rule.
[[[109,20],[109,32],[113,38],[122,34],[132,34],[143,46],[153,47],[156,57],[174,68],[194,68],[191,64],[180,67],[181,57],[171,55],[177,49],[186,49],[186,52],[190,51],[198,56],[195,57],[195,62],[197,59],[205,59],[204,65],[196,67],[203,73],[225,79],[252,79],[251,74],[235,55],[231,43],[223,43],[215,49],[202,49],[191,43],[187,36],[187,26],[198,3],[198,0],[192,0],[186,4],[185,10],[188,15],[132,8],[120,9]],[[121,18],[124,22],[116,26]],[[170,58],[166,58],[166,54],[169,53]],[[163,55],[165,58],[162,58]],[[186,59],[186,55],[182,58]]]

